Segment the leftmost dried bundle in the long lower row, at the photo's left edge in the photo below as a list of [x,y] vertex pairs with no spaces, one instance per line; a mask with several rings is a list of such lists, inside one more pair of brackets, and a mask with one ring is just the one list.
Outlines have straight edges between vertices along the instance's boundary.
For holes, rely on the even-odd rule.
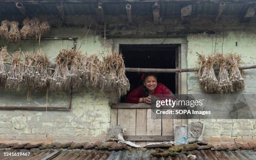
[[8,52],[7,52],[7,47],[2,47],[0,51],[0,86],[5,85],[5,81],[7,79],[7,71],[5,68],[4,61],[7,59]]

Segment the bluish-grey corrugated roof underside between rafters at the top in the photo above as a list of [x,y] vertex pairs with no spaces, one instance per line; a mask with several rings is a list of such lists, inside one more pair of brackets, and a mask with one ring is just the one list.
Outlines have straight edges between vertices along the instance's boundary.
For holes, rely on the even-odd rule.
[[[154,2],[129,2],[132,8],[132,15],[152,15]],[[105,15],[125,15],[126,3],[102,3]],[[217,15],[219,3],[173,3],[161,2],[160,14],[163,16],[180,15],[182,7],[192,4],[192,15]],[[32,4],[24,2],[28,15],[44,14],[58,15],[56,4],[40,3]],[[66,15],[93,15],[97,3],[63,3]],[[222,12],[223,15],[243,15],[249,7],[249,3],[226,3]],[[15,3],[3,3],[0,8],[0,15],[20,15]]]

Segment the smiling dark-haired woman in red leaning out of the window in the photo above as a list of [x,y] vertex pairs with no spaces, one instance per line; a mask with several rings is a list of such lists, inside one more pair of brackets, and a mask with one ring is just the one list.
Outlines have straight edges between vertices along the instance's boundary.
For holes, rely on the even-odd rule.
[[172,91],[164,84],[157,83],[157,77],[153,73],[143,74],[141,76],[143,84],[131,91],[125,99],[126,103],[146,103],[151,104],[152,94],[169,94],[173,95]]

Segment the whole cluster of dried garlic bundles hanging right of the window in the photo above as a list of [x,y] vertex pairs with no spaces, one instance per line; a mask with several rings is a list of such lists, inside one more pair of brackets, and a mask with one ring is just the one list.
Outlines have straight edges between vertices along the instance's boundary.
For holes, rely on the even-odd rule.
[[[207,94],[228,94],[233,91],[244,89],[243,77],[238,69],[241,57],[236,54],[222,55],[220,53],[207,56],[198,54],[198,69],[196,73],[200,77],[199,83],[202,90]],[[220,67],[218,80],[213,67]],[[230,76],[227,67],[231,67]],[[202,73],[201,73],[202,69]]]

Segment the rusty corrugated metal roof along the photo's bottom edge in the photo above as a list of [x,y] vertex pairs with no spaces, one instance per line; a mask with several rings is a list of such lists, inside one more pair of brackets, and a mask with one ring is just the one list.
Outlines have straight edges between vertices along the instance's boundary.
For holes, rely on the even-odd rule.
[[[58,150],[0,150],[1,160],[17,160],[17,156],[4,156],[4,152],[11,155],[15,152],[30,152],[29,156],[19,156],[19,160],[41,160],[46,156]],[[195,150],[187,153],[180,152],[179,155],[172,156],[152,156],[155,150],[125,150],[125,151],[108,151],[108,150],[67,150],[60,149],[52,160],[256,160],[256,151],[253,150],[236,150],[236,151],[211,151]],[[53,155],[54,156],[54,155]]]

